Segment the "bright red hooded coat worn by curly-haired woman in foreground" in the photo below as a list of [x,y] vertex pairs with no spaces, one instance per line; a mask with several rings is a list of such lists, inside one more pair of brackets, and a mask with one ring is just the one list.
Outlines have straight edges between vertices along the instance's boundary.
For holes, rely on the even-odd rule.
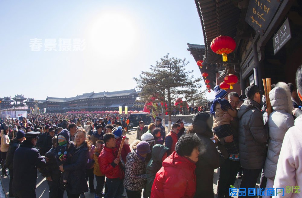
[[196,166],[175,151],[162,162],[155,175],[151,198],[191,198],[196,190]]

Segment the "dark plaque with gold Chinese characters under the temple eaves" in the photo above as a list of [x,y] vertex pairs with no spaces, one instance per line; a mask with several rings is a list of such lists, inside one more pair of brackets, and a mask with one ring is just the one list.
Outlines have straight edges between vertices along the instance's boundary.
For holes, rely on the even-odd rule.
[[276,0],[250,0],[245,21],[262,35],[279,4]]

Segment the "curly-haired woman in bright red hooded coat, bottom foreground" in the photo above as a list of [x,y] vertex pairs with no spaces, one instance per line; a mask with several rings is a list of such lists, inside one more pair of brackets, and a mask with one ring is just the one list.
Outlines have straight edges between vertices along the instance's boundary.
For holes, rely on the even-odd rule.
[[196,190],[195,163],[198,161],[199,141],[195,136],[181,136],[175,151],[162,162],[156,173],[151,198],[193,198]]

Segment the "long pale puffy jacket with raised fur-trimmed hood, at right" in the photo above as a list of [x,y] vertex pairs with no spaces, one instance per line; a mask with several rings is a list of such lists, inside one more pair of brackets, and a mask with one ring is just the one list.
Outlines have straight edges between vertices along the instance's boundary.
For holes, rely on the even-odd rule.
[[269,92],[269,98],[274,111],[268,117],[269,142],[263,170],[265,177],[274,180],[284,135],[294,126],[294,118],[291,112],[291,92],[286,83],[276,84]]

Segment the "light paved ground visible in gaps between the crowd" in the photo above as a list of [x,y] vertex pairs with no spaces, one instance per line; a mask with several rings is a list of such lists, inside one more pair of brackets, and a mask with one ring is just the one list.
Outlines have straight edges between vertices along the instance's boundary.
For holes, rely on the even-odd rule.
[[[167,131],[168,128],[167,127],[165,127],[165,128]],[[185,126],[185,128],[187,128],[187,126]],[[128,132],[127,137],[129,137],[129,143],[133,142],[136,139],[136,131]],[[214,171],[213,188],[214,188],[215,197],[216,197],[216,193],[217,193],[218,179],[219,179],[219,168]],[[9,176],[1,177],[1,181],[2,181],[4,193],[6,194],[6,196],[8,196]],[[259,181],[260,181],[260,176],[258,178],[257,187],[259,187]],[[238,188],[240,186],[240,183],[241,183],[241,180],[236,179],[234,187]],[[96,180],[94,182],[94,186],[96,187]],[[42,177],[41,174],[38,172],[37,188],[36,188],[37,198],[47,198],[48,192],[49,192],[49,189],[48,189],[46,179],[45,179],[45,177]],[[126,195],[126,190],[124,191],[124,195]],[[4,197],[3,195],[1,196],[1,186],[0,186],[0,197],[1,198]],[[66,192],[64,193],[64,198],[65,197],[67,198]],[[85,197],[92,198],[92,197],[94,197],[94,195],[93,195],[93,193],[87,192],[87,193],[85,193]],[[238,196],[235,196],[235,197],[238,197]]]

